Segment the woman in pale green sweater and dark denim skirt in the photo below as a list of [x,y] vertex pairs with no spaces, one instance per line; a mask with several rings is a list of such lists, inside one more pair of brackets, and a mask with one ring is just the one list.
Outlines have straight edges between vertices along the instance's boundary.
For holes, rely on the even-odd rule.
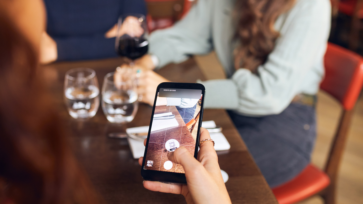
[[149,54],[135,63],[142,101],[152,105],[168,81],[152,69],[214,49],[228,78],[197,81],[204,107],[229,110],[270,187],[282,185],[310,163],[330,16],[329,0],[198,0],[151,33]]

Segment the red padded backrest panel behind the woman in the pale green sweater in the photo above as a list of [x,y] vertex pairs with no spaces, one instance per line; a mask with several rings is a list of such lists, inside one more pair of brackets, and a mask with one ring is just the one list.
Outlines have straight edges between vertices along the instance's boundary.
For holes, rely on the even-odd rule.
[[329,42],[324,64],[321,89],[338,99],[344,110],[353,109],[363,85],[362,56]]

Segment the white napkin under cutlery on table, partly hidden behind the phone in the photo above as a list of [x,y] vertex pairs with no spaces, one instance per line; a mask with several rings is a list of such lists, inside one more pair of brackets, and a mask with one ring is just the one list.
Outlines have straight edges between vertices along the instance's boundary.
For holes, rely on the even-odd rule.
[[[173,119],[175,119],[175,118],[173,118]],[[169,119],[166,119],[166,120],[169,120]],[[159,120],[159,121],[166,121],[166,120]],[[216,123],[214,121],[203,121],[202,127],[215,128]],[[142,132],[148,132],[148,131],[149,131],[149,126],[131,127],[131,128],[126,129],[127,134],[142,133]],[[214,133],[211,133],[210,135],[211,135],[211,139],[214,140],[214,142],[215,142],[214,149],[216,151],[229,150],[229,148],[231,148],[231,145],[228,143],[227,139],[222,134],[222,132],[214,132]],[[127,138],[127,141],[129,142],[129,146],[130,146],[132,155],[134,156],[134,159],[139,159],[141,156],[144,156],[145,146],[144,146],[143,141],[135,140],[132,138]]]

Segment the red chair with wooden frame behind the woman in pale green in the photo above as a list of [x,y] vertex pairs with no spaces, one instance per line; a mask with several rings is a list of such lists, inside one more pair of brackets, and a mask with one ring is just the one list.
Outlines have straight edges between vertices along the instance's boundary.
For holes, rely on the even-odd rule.
[[321,195],[326,204],[335,203],[335,188],[353,107],[363,85],[363,58],[332,43],[325,54],[326,75],[321,89],[340,102],[343,113],[330,147],[325,170],[310,164],[293,180],[273,188],[280,204],[292,204],[313,195]]

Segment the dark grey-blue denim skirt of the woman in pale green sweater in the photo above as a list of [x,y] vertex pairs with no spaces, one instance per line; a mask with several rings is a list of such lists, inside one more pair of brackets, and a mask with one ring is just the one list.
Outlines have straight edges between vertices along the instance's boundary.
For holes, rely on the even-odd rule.
[[293,179],[310,163],[316,138],[314,106],[291,103],[282,113],[265,117],[228,114],[270,187]]

